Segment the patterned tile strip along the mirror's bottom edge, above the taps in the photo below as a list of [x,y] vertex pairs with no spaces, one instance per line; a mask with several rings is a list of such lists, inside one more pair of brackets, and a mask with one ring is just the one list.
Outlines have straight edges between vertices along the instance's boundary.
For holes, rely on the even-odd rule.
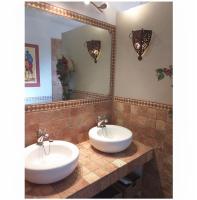
[[86,104],[96,104],[112,101],[112,97],[98,98],[98,99],[80,99],[80,100],[69,100],[69,101],[58,101],[54,103],[46,104],[35,104],[26,105],[26,112],[37,112],[37,111],[47,111],[47,110],[59,110],[67,107],[80,107]]

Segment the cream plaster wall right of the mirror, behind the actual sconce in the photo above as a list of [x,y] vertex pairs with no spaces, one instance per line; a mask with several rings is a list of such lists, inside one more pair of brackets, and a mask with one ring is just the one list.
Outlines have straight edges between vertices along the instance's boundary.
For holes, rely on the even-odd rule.
[[[150,48],[138,61],[129,34],[153,31]],[[172,104],[169,77],[157,80],[156,69],[172,64],[172,3],[151,2],[117,15],[115,96]]]

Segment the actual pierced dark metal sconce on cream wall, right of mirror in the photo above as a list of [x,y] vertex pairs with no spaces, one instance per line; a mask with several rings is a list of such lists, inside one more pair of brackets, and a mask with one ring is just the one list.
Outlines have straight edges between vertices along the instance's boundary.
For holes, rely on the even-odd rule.
[[138,60],[142,60],[142,55],[149,46],[151,36],[152,31],[144,29],[132,31],[132,33],[129,34],[129,37],[133,42],[133,47],[138,54]]

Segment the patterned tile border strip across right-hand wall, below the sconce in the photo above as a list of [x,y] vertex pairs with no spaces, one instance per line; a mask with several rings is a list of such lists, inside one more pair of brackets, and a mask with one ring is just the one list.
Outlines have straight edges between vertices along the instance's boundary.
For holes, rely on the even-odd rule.
[[152,101],[145,101],[145,100],[138,100],[138,99],[131,99],[125,97],[117,97],[113,98],[113,101],[121,102],[121,103],[129,103],[137,106],[145,106],[145,107],[152,107],[160,110],[172,110],[172,105],[157,103]]

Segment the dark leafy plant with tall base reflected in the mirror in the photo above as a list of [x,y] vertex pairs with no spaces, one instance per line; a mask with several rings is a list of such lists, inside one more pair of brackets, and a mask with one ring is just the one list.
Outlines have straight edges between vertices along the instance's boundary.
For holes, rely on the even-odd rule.
[[71,98],[72,90],[69,88],[69,82],[74,72],[73,61],[65,56],[57,59],[56,73],[62,85],[62,99],[68,100]]

